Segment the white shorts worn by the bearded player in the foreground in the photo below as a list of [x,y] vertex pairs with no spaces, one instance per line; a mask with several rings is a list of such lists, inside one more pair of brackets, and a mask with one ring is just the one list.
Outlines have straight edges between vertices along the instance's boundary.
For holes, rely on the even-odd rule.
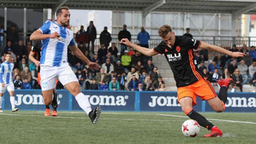
[[42,91],[55,88],[56,78],[58,78],[63,86],[72,81],[78,82],[76,75],[74,74],[68,63],[62,63],[60,67],[48,65],[41,66],[40,77]]

